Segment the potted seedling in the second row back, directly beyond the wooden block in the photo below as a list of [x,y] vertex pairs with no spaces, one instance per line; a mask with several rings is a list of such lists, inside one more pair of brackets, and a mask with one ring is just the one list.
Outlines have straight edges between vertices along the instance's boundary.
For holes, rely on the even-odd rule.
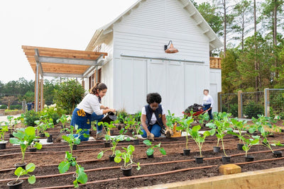
[[242,137],[242,136],[243,136],[244,131],[246,130],[246,127],[247,127],[246,122],[247,121],[246,120],[240,120],[239,121],[239,120],[237,120],[237,118],[231,119],[230,121],[233,125],[234,130],[237,130],[237,132],[229,131],[228,133],[239,138],[239,144],[237,144],[236,147],[237,147],[237,149],[242,150],[243,146],[244,146],[244,142],[242,142],[244,137]]

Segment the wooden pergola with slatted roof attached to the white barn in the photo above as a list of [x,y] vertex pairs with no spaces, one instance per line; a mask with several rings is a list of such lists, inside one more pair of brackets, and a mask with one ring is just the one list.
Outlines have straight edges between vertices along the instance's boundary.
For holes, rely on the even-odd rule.
[[102,66],[105,52],[92,52],[83,50],[65,50],[49,47],[22,46],[23,52],[35,73],[35,111],[38,111],[39,89],[40,108],[43,108],[43,77],[58,76],[84,78],[96,73],[98,81],[98,67]]

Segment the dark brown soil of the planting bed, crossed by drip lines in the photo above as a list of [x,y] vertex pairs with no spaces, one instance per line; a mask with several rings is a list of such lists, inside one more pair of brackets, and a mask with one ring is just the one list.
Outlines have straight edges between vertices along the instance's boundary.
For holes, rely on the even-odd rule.
[[[59,130],[53,130],[53,136],[56,137],[59,133]],[[118,131],[114,132],[114,134],[118,134]],[[284,142],[283,133],[276,133],[274,137],[270,137],[269,139]],[[110,178],[116,179],[115,181],[105,181],[100,183],[88,184],[81,186],[80,188],[136,188],[147,185],[156,185],[160,183],[173,183],[176,181],[187,181],[194,180],[197,178],[209,178],[212,176],[219,176],[218,168],[222,165],[222,155],[223,151],[219,153],[214,153],[212,151],[212,147],[216,146],[217,139],[216,137],[208,137],[206,139],[206,143],[202,148],[202,156],[204,156],[203,164],[195,163],[195,156],[200,156],[197,145],[192,139],[189,141],[189,147],[191,149],[190,156],[183,156],[182,150],[185,148],[185,137],[181,138],[172,138],[165,139],[159,138],[155,140],[155,144],[161,142],[161,146],[165,148],[167,151],[167,155],[163,156],[160,154],[158,150],[155,150],[154,158],[147,159],[146,158],[146,145],[140,141],[140,145],[135,146],[136,150],[133,154],[133,161],[140,162],[141,170],[137,171],[135,167],[132,169],[133,176],[141,176],[151,173],[163,173],[165,171],[175,171],[183,168],[196,168],[202,166],[213,166],[211,168],[198,168],[190,171],[182,171],[178,173],[170,173],[162,176],[144,176],[143,178],[130,178],[126,180],[121,180],[119,178],[125,178],[122,175],[120,166],[122,166],[122,162],[120,164],[116,164],[115,162],[110,162],[108,160],[108,156],[111,155],[110,151],[107,151],[102,160],[97,160],[97,154],[99,151],[104,149],[103,141],[96,142],[82,142],[78,145],[77,150],[73,152],[75,156],[78,156],[77,161],[83,161],[79,164],[84,167],[85,170],[94,169],[94,168],[106,168],[112,167],[111,169],[106,170],[97,170],[97,171],[87,171],[88,182],[92,181],[100,181],[107,180]],[[244,151],[237,150],[236,144],[239,143],[239,139],[235,139],[234,137],[230,137],[227,135],[225,139],[224,147],[226,149],[226,154],[231,156],[232,164],[239,164],[244,162]],[[119,149],[121,147],[126,147],[128,144],[132,144],[132,142],[121,142],[119,144]],[[221,143],[220,143],[221,146]],[[273,147],[273,149],[283,149],[284,147]],[[37,151],[35,153],[26,152],[25,161],[27,163],[33,162],[35,166],[35,171],[33,174],[35,176],[45,176],[45,175],[55,175],[59,174],[58,164],[60,161],[65,158],[65,151],[69,150],[69,147],[66,143],[60,142],[50,145],[44,145],[43,149]],[[258,152],[256,154],[250,154],[254,156],[254,160],[262,160],[262,159],[273,159],[273,161],[263,161],[260,163],[253,164],[244,164],[240,165],[242,171],[254,171],[261,170],[266,168],[274,168],[283,166],[283,159],[276,159],[271,151],[267,151],[268,148],[263,147],[261,145],[254,146],[251,148],[249,152]],[[16,153],[16,154],[14,154]],[[241,154],[233,156],[234,154]],[[5,155],[5,156],[1,156]],[[213,159],[208,159],[213,158]],[[3,171],[6,168],[14,168],[13,164],[21,161],[21,151],[19,147],[13,147],[11,144],[7,144],[6,150],[0,150],[0,160],[2,164],[0,164],[0,180],[7,178],[16,178],[13,175],[13,171]],[[185,162],[172,162],[169,164],[155,164],[159,162],[168,162],[168,161],[180,161],[185,160]],[[87,162],[88,161],[88,162]],[[2,170],[2,171],[1,171]],[[48,186],[60,186],[60,185],[72,185],[72,172],[75,171],[74,167],[71,167],[68,171],[68,175],[64,176],[53,176],[50,178],[37,178],[35,184],[30,185],[25,180],[23,183],[23,188],[42,188]],[[25,176],[24,176],[25,177]],[[6,183],[8,181],[0,182],[0,188],[6,188]]]

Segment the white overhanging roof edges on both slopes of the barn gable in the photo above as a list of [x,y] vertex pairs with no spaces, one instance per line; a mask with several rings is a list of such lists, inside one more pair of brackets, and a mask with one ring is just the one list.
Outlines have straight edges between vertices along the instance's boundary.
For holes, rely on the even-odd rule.
[[[120,21],[122,21],[122,19],[125,16],[129,16],[131,11],[138,8],[145,1],[147,0],[136,1],[136,3],[133,4],[126,11],[124,11],[124,13],[121,13],[121,15],[115,18],[114,21],[108,23],[107,25],[104,25],[102,28],[97,29],[92,39],[90,40],[86,50],[94,50],[94,47],[100,45],[104,40],[104,37],[112,32],[112,28],[114,27],[115,23],[119,23]],[[183,5],[183,8],[185,8],[185,10],[188,11],[188,13],[190,13],[190,18],[192,18],[197,23],[197,25],[203,30],[203,34],[207,35],[207,38],[209,38],[210,42],[210,50],[214,50],[223,46],[221,40],[219,40],[216,33],[214,33],[214,31],[209,26],[207,21],[205,21],[205,19],[202,17],[200,12],[197,11],[197,8],[195,8],[195,6],[192,4],[190,0],[176,0],[176,1],[180,1],[180,3]]]

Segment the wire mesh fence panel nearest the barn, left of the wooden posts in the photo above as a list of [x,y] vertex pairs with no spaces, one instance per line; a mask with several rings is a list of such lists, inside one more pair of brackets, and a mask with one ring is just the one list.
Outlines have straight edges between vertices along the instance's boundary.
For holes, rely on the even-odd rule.
[[238,93],[220,94],[221,112],[231,113],[231,116],[238,116]]

